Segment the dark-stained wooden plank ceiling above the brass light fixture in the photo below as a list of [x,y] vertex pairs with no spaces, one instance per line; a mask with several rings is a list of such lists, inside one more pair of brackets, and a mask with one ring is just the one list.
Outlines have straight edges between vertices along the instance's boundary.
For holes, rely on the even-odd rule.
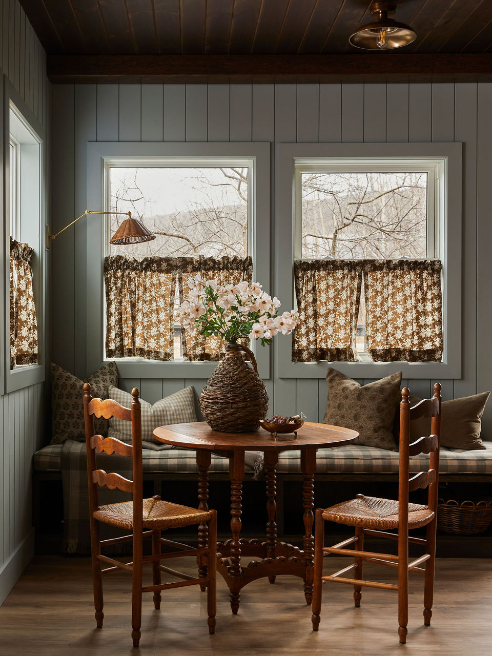
[[[375,69],[383,58],[403,60],[409,54],[420,55],[422,62],[424,55],[432,54],[448,56],[440,62],[450,61],[452,54],[466,54],[468,59],[462,61],[469,62],[492,58],[492,0],[400,0],[393,18],[411,25],[417,39],[402,49],[383,52],[363,51],[348,43],[358,26],[372,20],[369,0],[20,0],[20,4],[52,56],[50,64],[57,62],[58,72],[73,62],[65,59],[72,55],[89,56],[88,65],[91,56],[99,56],[99,62],[104,62],[100,56],[113,56],[107,60],[113,63],[115,56],[131,56],[120,59],[122,65],[144,62],[141,56],[165,56],[154,60],[159,66],[169,56],[174,62],[178,56],[220,56],[225,63],[239,55],[243,63],[256,62],[255,66],[262,56],[270,56],[265,62],[285,55],[295,56],[298,62],[305,55],[328,56],[324,61],[333,55],[337,60],[332,61],[338,62],[343,56],[350,66],[371,56],[379,58],[371,64]],[[479,54],[487,57],[471,57]],[[83,59],[78,62],[80,70]]]

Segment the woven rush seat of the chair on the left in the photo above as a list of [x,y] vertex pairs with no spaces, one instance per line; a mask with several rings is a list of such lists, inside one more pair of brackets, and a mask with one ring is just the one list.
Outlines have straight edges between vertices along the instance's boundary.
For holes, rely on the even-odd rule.
[[[208,522],[211,512],[197,510],[180,506],[169,501],[157,501],[157,499],[144,499],[144,529],[167,529],[168,527],[189,526]],[[94,512],[94,519],[98,522],[111,524],[122,529],[133,530],[133,501],[113,503],[108,506],[100,506]]]

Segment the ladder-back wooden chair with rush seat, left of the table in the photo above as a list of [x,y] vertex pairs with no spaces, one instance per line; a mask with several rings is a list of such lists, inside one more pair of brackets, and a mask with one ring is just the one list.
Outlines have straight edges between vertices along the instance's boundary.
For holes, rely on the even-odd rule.
[[[132,390],[131,409],[119,405],[111,399],[102,401],[92,398],[91,386],[84,385],[84,419],[85,419],[85,443],[87,447],[87,475],[89,481],[89,510],[91,520],[91,548],[92,548],[92,580],[94,586],[94,608],[96,609],[96,625],[101,628],[104,613],[102,612],[102,573],[110,571],[125,570],[132,574],[132,638],[133,646],[138,647],[140,642],[140,625],[142,622],[142,592],[154,592],[154,606],[161,607],[161,590],[167,588],[179,588],[197,584],[207,587],[207,611],[209,632],[215,631],[215,576],[216,576],[216,511],[197,510],[179,506],[167,501],[161,501],[160,497],[152,499],[143,498],[143,474],[142,474],[142,422],[140,415],[139,392],[136,388]],[[124,443],[115,438],[102,438],[94,435],[94,415],[96,417],[117,417],[132,422],[132,443]],[[115,473],[106,473],[96,466],[97,449],[100,453],[117,453],[133,459],[133,480],[123,478]],[[133,501],[98,506],[98,485],[106,485],[110,489],[121,489],[133,495]],[[117,537],[110,540],[100,541],[99,522],[104,522],[126,531],[131,535]],[[161,531],[180,526],[200,524],[208,522],[208,546],[206,548],[193,549],[186,544],[176,543],[161,537]],[[143,556],[143,537],[152,537],[152,556]],[[108,544],[116,544],[125,541],[133,541],[133,562],[121,563],[113,558],[101,554],[101,547]],[[173,552],[161,553],[161,546],[165,544],[174,549]],[[174,569],[161,565],[161,560],[178,558],[182,556],[197,556],[199,560],[205,559],[208,569],[203,578],[194,578],[188,574],[182,574]],[[102,569],[102,563],[109,567]],[[152,565],[152,585],[142,586],[142,565]],[[182,579],[173,583],[161,583],[161,571]]]

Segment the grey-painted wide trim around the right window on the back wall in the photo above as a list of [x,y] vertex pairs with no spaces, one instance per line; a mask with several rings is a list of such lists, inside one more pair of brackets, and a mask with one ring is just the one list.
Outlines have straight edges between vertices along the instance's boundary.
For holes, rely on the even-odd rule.
[[[324,378],[327,366],[357,379],[380,378],[402,371],[403,378],[461,378],[461,143],[398,144],[279,144],[276,153],[275,243],[276,294],[295,302],[293,259],[295,253],[295,165],[313,159],[356,160],[387,158],[405,162],[442,160],[445,181],[440,184],[436,251],[443,263],[443,361],[442,362],[292,362],[292,338],[276,342],[276,375],[279,378]],[[441,217],[446,217],[442,220]],[[459,293],[457,292],[459,291]]]

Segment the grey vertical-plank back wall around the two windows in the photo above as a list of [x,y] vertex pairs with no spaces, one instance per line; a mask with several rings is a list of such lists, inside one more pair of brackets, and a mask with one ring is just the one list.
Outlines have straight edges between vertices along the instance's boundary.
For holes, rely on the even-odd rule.
[[[85,209],[88,141],[463,142],[462,289],[455,290],[462,295],[462,378],[441,382],[444,398],[491,389],[491,84],[56,85],[53,111],[54,230]],[[283,220],[291,220],[274,216],[274,194],[275,171],[272,237]],[[79,222],[64,249],[53,249],[52,357],[79,376],[90,373],[85,371],[83,289],[87,229],[87,222]],[[127,390],[138,386],[142,398],[153,402],[188,384],[199,394],[204,382],[124,379],[121,384]],[[403,381],[422,396],[430,394],[431,382]],[[324,380],[267,384],[270,410],[285,414],[296,408],[322,420]],[[492,402],[484,428],[490,439]]]

